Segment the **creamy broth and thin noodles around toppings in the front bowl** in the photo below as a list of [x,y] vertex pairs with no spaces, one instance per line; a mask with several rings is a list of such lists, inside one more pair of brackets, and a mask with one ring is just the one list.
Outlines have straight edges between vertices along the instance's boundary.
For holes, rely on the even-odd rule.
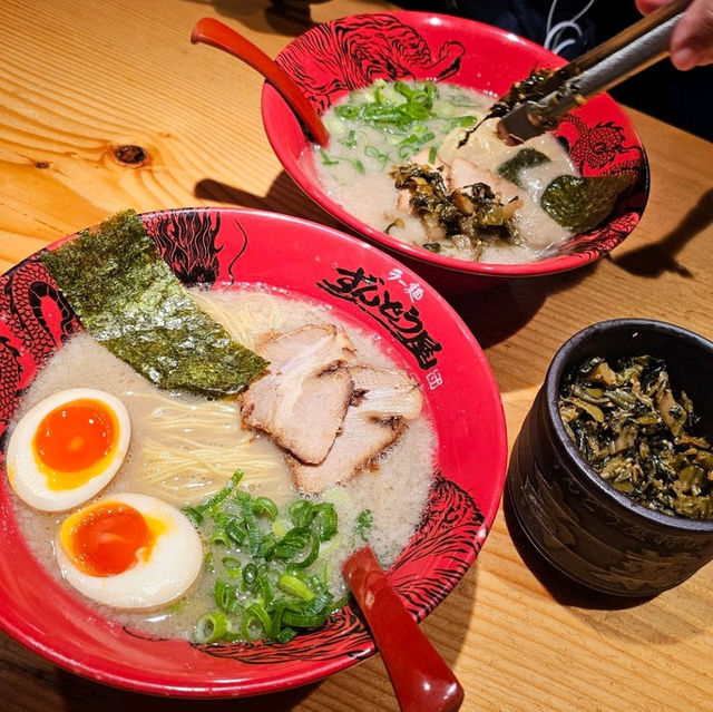
[[[346,331],[361,363],[399,368],[384,353],[380,337],[364,333],[322,305],[247,289],[192,292],[206,311],[247,347],[254,347],[264,332],[329,322]],[[72,337],[37,375],[18,419],[51,393],[75,387],[114,393],[124,401],[131,419],[127,459],[99,497],[113,491],[134,491],[182,507],[206,499],[236,468],[244,471],[242,487],[255,496],[271,497],[281,508],[297,496],[282,451],[266,436],[241,429],[235,401],[207,401],[159,391],[84,332]],[[422,413],[382,456],[378,471],[364,472],[322,495],[322,499],[334,504],[339,516],[338,546],[328,544],[333,548],[329,554],[333,581],[339,582],[341,591],[345,586],[339,575],[340,563],[349,554],[350,535],[363,509],[373,513],[370,543],[382,564],[388,565],[408,542],[428,497],[434,446],[434,435]],[[212,479],[212,471],[218,477]],[[30,548],[51,575],[61,581],[55,537],[69,511],[38,513],[17,497],[13,499]],[[80,596],[74,589],[72,593]],[[149,612],[127,613],[88,599],[87,603],[109,618],[165,637],[189,637],[197,618],[214,607],[207,578],[198,581],[178,602]]]

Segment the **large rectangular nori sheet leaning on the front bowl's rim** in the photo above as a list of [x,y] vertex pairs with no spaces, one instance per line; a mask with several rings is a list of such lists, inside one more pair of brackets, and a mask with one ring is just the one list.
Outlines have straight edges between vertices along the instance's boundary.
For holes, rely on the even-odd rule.
[[267,365],[198,308],[134,211],[41,260],[87,331],[159,388],[221,398]]

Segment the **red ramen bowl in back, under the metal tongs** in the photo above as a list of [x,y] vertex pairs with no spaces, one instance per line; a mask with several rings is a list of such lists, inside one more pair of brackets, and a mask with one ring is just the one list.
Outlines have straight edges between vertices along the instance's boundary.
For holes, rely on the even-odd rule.
[[[560,67],[561,57],[510,32],[457,17],[379,12],[333,20],[304,32],[276,61],[320,114],[377,79],[438,80],[490,95],[504,95],[533,69]],[[607,95],[565,118],[556,136],[583,176],[629,172],[634,187],[595,230],[563,243],[546,259],[521,264],[468,262],[407,244],[367,225],[336,204],[320,185],[311,143],[277,94],[265,84],[262,114],[272,147],[294,182],[328,213],[358,235],[390,251],[438,289],[489,286],[502,277],[574,270],[618,245],[638,223],[648,195],[648,165],[631,121]]]

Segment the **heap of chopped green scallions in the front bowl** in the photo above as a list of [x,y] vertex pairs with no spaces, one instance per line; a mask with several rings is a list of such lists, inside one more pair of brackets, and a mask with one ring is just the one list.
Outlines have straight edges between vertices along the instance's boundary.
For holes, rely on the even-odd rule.
[[321,543],[338,534],[336,510],[332,503],[300,498],[281,516],[272,499],[237,489],[240,477],[193,507],[206,562],[215,562],[215,609],[198,620],[194,640],[285,643],[336,609],[330,564],[320,556]]

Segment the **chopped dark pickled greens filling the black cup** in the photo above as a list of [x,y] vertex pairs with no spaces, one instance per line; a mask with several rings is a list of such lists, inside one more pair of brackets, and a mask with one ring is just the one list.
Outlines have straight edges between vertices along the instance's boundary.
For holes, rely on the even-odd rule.
[[565,373],[558,407],[579,452],[615,489],[649,509],[713,518],[713,449],[692,433],[693,403],[674,396],[663,361],[586,359]]

